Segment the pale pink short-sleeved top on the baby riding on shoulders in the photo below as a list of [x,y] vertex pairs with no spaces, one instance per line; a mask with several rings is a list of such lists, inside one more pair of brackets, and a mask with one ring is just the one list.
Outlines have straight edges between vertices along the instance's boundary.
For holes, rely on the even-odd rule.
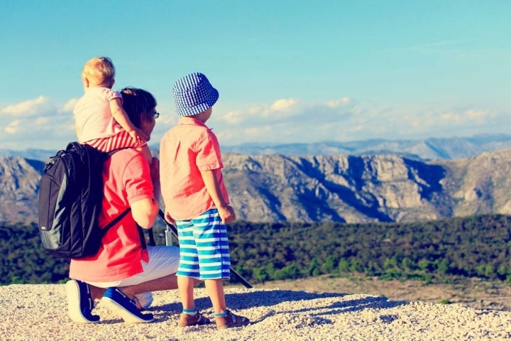
[[110,101],[120,98],[120,92],[107,87],[89,87],[73,109],[80,144],[85,141],[109,137],[123,131],[110,112]]

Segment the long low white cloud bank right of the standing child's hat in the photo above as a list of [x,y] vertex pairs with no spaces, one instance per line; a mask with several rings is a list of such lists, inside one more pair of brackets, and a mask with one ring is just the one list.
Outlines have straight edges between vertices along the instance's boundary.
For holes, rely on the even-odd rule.
[[[287,111],[281,112],[281,109]],[[499,116],[500,120],[506,119],[504,113],[479,108],[368,105],[348,97],[322,103],[282,99],[244,112],[236,110],[236,117],[244,119],[237,120],[236,124],[231,120],[230,124],[216,125],[216,134],[221,134],[221,143],[229,145],[425,139],[456,136],[458,131],[492,133],[495,132],[491,130],[493,122],[498,121]],[[241,133],[233,133],[233,129]]]

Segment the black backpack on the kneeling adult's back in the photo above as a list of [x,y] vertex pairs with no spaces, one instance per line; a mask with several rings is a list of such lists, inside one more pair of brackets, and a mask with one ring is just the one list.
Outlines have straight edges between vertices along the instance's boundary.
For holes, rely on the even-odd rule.
[[101,238],[130,208],[101,229],[105,153],[78,142],[58,151],[45,166],[39,184],[39,232],[43,247],[64,258],[97,254]]

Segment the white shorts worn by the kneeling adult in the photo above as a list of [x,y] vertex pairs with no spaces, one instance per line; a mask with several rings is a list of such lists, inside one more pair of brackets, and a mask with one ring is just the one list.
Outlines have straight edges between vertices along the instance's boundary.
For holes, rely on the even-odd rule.
[[148,253],[149,262],[142,261],[143,271],[140,274],[124,278],[121,281],[87,283],[98,288],[134,286],[176,273],[180,259],[179,247],[167,247],[165,245],[148,247]]

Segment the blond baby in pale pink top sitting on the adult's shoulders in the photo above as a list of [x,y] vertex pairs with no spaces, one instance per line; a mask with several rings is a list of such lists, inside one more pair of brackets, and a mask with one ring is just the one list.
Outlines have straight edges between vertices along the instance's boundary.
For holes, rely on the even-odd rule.
[[128,118],[121,94],[111,89],[114,82],[115,67],[110,58],[96,57],[85,63],[82,70],[85,94],[73,110],[78,141],[100,151],[139,148],[151,163],[147,136]]

